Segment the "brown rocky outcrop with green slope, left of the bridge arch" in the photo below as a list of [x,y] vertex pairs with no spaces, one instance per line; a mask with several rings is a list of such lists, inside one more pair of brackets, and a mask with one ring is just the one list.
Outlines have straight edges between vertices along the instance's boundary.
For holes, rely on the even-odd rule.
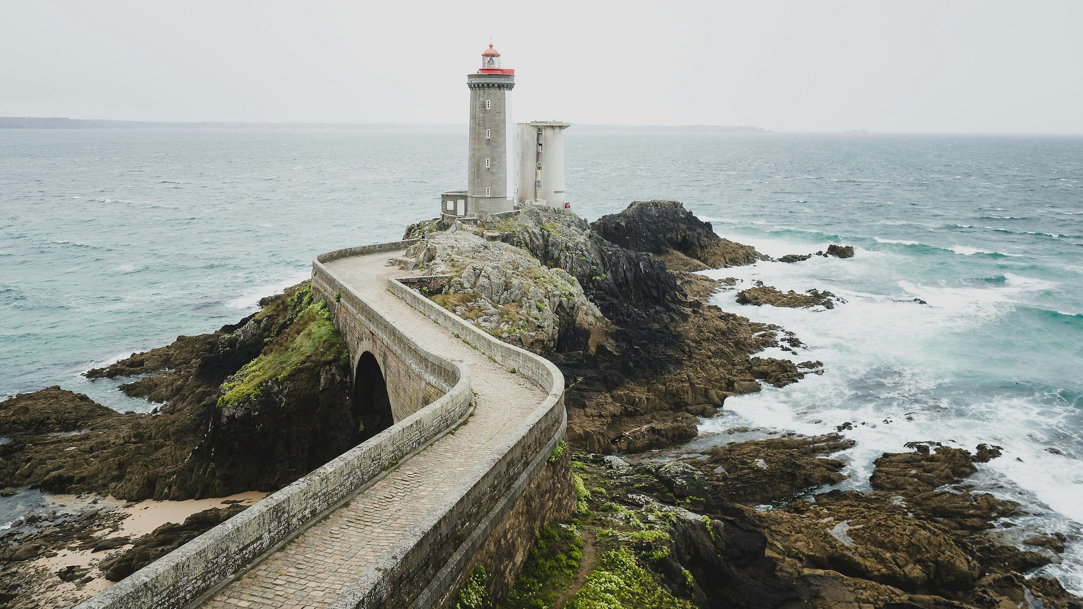
[[56,388],[0,402],[13,414],[0,418],[13,437],[0,444],[0,487],[224,496],[278,489],[354,445],[345,350],[326,308],[306,283],[263,303],[242,324],[88,373],[153,374],[121,390],[164,402],[154,414],[113,413]]

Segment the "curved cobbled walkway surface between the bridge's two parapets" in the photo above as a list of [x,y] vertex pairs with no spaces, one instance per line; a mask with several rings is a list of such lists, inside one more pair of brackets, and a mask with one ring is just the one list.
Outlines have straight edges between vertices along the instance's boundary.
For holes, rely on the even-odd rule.
[[473,416],[219,591],[204,607],[325,607],[523,424],[547,393],[392,295],[402,251],[344,258],[336,275],[420,347],[470,368]]

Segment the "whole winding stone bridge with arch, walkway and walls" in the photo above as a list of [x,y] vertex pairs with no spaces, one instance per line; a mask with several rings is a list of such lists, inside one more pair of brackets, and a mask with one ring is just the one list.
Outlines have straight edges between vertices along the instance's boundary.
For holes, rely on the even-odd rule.
[[408,287],[413,243],[313,261],[371,436],[80,608],[447,607],[477,565],[510,587],[574,508],[564,379]]

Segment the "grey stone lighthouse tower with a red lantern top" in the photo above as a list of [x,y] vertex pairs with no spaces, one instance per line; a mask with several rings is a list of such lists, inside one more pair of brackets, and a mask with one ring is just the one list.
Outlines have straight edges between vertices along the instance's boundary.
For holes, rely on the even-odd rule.
[[470,89],[467,216],[511,211],[507,95],[514,86],[516,70],[501,67],[500,53],[490,44],[481,54],[481,68],[467,76]]

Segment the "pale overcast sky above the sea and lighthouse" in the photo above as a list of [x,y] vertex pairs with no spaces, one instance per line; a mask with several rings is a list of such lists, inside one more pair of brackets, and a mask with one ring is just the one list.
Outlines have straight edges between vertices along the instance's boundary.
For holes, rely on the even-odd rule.
[[0,0],[0,116],[1083,133],[1083,1]]

